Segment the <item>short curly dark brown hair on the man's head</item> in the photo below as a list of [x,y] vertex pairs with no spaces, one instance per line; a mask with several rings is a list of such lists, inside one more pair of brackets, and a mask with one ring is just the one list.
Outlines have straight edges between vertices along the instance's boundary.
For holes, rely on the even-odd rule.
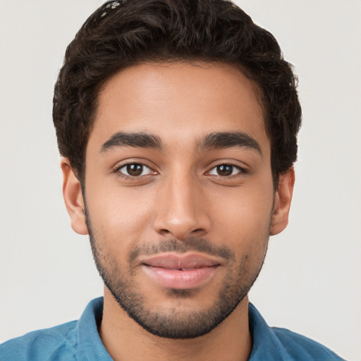
[[82,182],[99,90],[117,71],[145,61],[221,61],[262,90],[275,185],[297,158],[297,79],[271,33],[227,0],[108,1],[68,45],[54,90],[59,151]]

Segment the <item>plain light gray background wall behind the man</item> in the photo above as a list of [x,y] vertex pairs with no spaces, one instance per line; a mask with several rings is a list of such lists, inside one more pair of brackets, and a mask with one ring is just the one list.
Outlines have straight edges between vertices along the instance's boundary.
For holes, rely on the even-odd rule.
[[[250,293],[267,322],[361,360],[360,0],[237,1],[300,78],[290,225]],[[0,340],[77,319],[102,295],[71,230],[51,99],[66,45],[99,0],[0,0]]]

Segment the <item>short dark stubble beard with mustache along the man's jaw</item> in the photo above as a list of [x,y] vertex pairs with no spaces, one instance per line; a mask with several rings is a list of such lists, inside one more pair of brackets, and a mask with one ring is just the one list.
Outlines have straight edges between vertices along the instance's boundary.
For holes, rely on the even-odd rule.
[[[208,334],[221,324],[245,298],[253,283],[255,283],[266,255],[268,238],[265,242],[266,247],[261,262],[250,273],[249,259],[244,257],[237,264],[234,253],[227,246],[216,247],[204,238],[190,238],[184,241],[164,240],[158,245],[143,246],[142,249],[140,247],[135,248],[128,257],[128,271],[121,271],[116,257],[104,252],[102,246],[99,245],[99,240],[94,237],[87,212],[85,212],[85,216],[94,262],[105,286],[131,319],[150,334],[163,338],[195,338]],[[221,257],[228,255],[228,276],[213,305],[207,310],[187,313],[178,310],[176,306],[164,311],[154,310],[150,305],[147,305],[144,295],[135,290],[135,284],[131,280],[133,275],[131,264],[137,254],[145,252],[145,247],[148,253],[154,253],[157,250],[161,250],[161,252],[187,252],[188,250],[198,252],[207,250],[207,252],[211,252],[212,250],[212,254],[218,254]],[[151,248],[152,250],[150,250]],[[182,298],[191,298],[194,292],[195,290],[170,289],[168,296],[180,300]]]

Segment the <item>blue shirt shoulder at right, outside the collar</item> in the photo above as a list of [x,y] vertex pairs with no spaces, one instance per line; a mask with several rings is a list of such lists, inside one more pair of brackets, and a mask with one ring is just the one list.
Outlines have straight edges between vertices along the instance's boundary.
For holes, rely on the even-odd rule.
[[272,327],[271,330],[281,343],[291,360],[309,360],[309,361],[342,361],[343,359],[336,355],[326,346],[313,341],[310,338],[296,334],[288,329]]

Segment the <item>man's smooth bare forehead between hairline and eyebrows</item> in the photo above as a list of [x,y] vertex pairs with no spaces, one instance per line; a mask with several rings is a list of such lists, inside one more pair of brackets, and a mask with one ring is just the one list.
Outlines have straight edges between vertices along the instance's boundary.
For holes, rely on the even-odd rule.
[[224,63],[142,63],[119,71],[99,93],[88,145],[116,132],[145,132],[188,143],[242,131],[268,143],[257,85]]

